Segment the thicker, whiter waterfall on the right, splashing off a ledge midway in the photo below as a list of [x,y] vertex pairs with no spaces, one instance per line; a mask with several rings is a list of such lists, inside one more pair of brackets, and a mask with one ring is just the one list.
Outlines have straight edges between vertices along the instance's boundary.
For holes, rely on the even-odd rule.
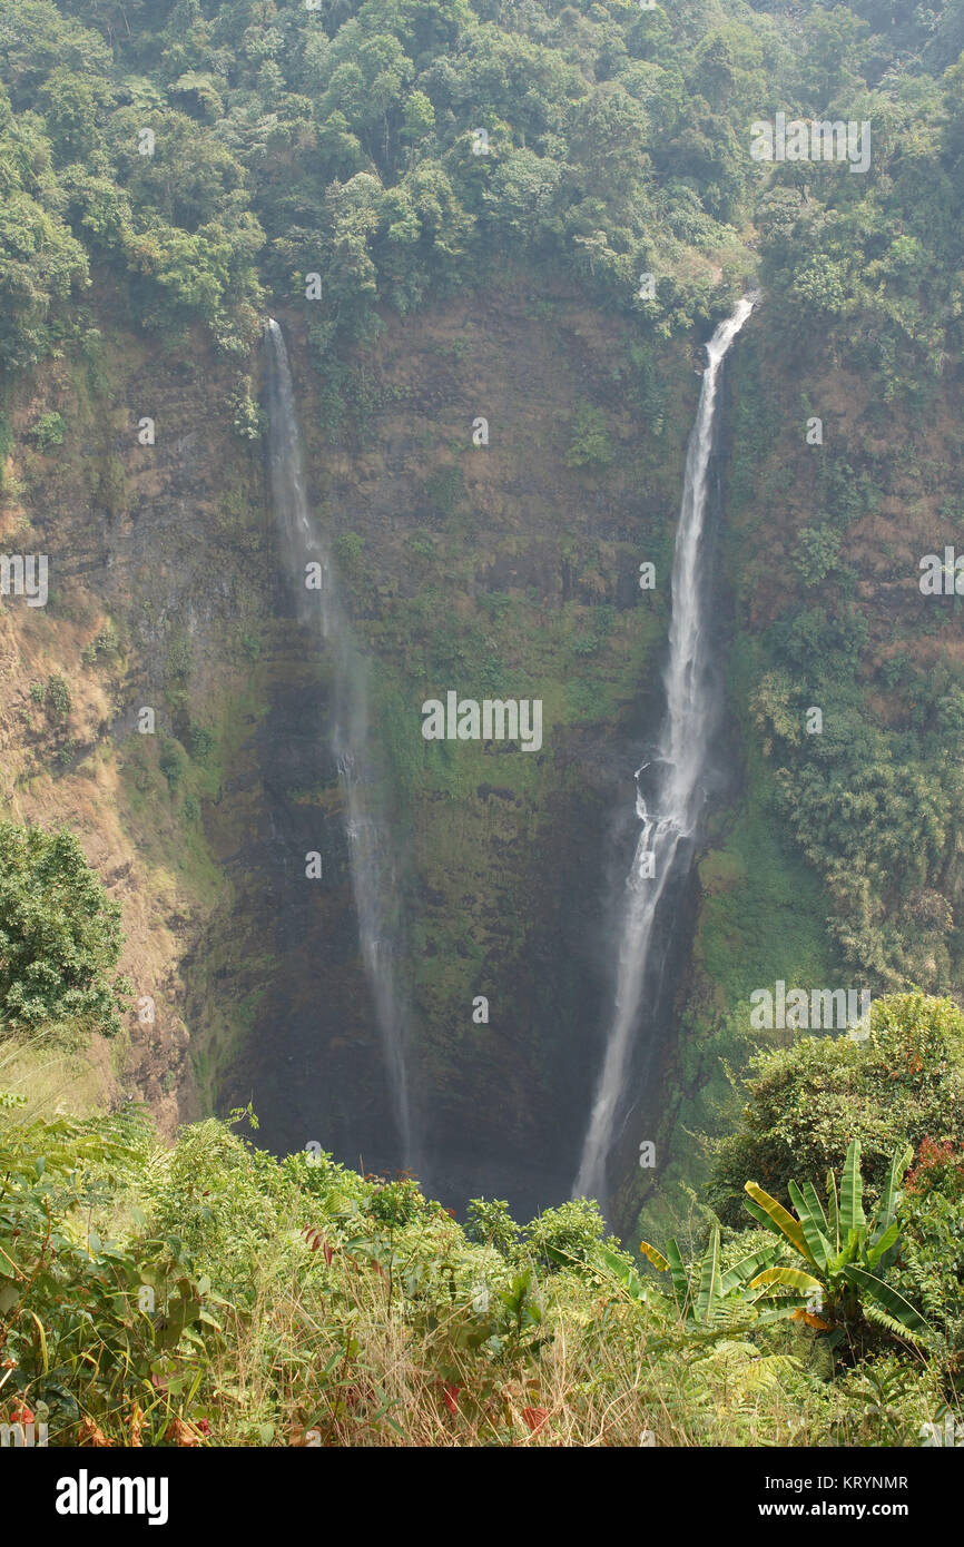
[[[607,1199],[607,1159],[624,1106],[642,990],[647,981],[659,903],[673,876],[685,874],[704,803],[702,774],[715,722],[704,627],[709,600],[702,572],[702,535],[713,447],[716,388],[726,353],[754,309],[746,297],[707,343],[709,365],[685,455],[676,549],[673,554],[670,651],[665,667],[665,715],[651,763],[636,770],[636,815],[642,823],[627,879],[625,913],[616,970],[616,1004],[585,1137],[574,1197]],[[647,794],[641,784],[645,780]]]

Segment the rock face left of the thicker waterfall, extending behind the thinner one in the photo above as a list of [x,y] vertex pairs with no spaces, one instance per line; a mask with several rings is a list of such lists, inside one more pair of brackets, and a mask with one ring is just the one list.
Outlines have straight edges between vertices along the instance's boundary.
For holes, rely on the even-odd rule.
[[[390,322],[322,425],[305,319],[282,320],[373,664],[421,1165],[446,1202],[526,1213],[568,1196],[596,1077],[698,384],[684,350],[644,357],[576,294],[520,283]],[[17,545],[50,554],[51,602],[0,614],[8,806],[71,823],[124,903],[153,1021],[132,1012],[121,1091],[167,1128],[251,1100],[271,1148],[393,1170],[330,662],[294,617],[260,446],[231,433],[237,365],[111,331],[107,303],[97,351],[37,373],[14,413],[5,543],[29,523]],[[68,435],[40,455],[23,433],[50,408]],[[31,701],[50,673],[63,724]],[[449,690],[542,699],[542,749],[426,743],[421,704]]]

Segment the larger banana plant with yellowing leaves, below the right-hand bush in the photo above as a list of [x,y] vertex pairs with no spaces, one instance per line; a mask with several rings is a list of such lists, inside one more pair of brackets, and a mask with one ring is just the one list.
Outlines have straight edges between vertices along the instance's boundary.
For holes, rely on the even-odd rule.
[[795,1214],[757,1182],[747,1182],[746,1207],[754,1219],[788,1242],[806,1264],[803,1269],[767,1265],[749,1287],[767,1295],[789,1289],[795,1290],[795,1296],[805,1296],[809,1313],[803,1320],[826,1330],[831,1344],[848,1337],[860,1316],[899,1337],[925,1341],[932,1330],[925,1318],[880,1276],[899,1250],[897,1205],[911,1159],[910,1148],[894,1151],[870,1221],[863,1213],[860,1145],[856,1139],[846,1151],[839,1197],[834,1173],[828,1171],[826,1210],[812,1182],[805,1182],[802,1188],[789,1183]]

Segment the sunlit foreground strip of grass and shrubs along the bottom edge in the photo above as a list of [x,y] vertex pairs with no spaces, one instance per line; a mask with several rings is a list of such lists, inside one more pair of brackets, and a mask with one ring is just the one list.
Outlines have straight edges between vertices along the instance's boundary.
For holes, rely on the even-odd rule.
[[914,1445],[941,1403],[890,1355],[837,1381],[811,1330],[747,1316],[716,1241],[723,1301],[699,1299],[704,1259],[681,1318],[590,1207],[526,1228],[593,1253],[546,1273],[410,1177],[279,1162],[215,1120],[164,1146],[135,1111],[45,1120],[12,1092],[0,1177],[0,1419],[51,1445]]

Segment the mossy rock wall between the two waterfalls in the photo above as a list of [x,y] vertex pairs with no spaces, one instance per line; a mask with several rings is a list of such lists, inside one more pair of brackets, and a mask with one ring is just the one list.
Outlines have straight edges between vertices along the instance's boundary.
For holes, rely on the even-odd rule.
[[[687,351],[633,357],[576,294],[520,280],[388,325],[344,384],[357,412],[333,446],[305,319],[282,322],[314,506],[373,667],[419,1166],[447,1200],[495,1193],[532,1211],[568,1196],[599,1067],[698,381]],[[480,419],[487,444],[473,442]],[[655,593],[638,583],[645,560]],[[542,746],[427,741],[422,704],[449,692],[542,701]],[[320,718],[306,705],[311,724]],[[300,775],[316,811],[302,855],[322,848],[306,835],[337,798],[314,767],[314,786],[311,769]],[[337,894],[337,828],[323,842]],[[303,893],[292,871],[292,917]],[[337,1132],[339,1153],[396,1165],[357,999],[339,1015],[330,998],[357,954],[345,917],[340,905],[326,973],[319,936],[286,936],[283,1030],[272,996],[226,1089],[260,1092],[262,1132],[282,1148]],[[299,984],[313,985],[300,1002]],[[297,1094],[277,1069],[280,1046]]]

